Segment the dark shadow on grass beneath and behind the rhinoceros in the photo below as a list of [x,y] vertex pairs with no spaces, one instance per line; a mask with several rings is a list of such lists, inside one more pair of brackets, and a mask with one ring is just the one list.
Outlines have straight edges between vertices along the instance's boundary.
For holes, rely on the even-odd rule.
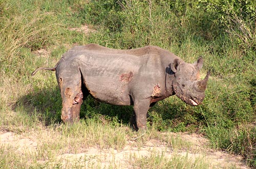
[[[61,123],[61,96],[58,86],[53,88],[34,89],[29,94],[20,97],[13,107],[27,112],[29,115],[37,114],[37,118],[45,125]],[[80,110],[80,119],[104,118],[107,121],[128,124],[132,116],[132,106],[116,106],[100,103],[91,96],[83,101]]]

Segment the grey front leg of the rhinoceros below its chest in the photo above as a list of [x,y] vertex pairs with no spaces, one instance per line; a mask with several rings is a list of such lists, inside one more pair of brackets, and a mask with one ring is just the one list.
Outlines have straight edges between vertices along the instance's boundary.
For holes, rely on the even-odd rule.
[[[150,101],[136,101],[134,102],[134,114],[135,116],[131,119],[131,125],[135,130],[145,130],[146,129],[146,115],[147,110],[150,108]],[[136,123],[134,123],[134,120]]]

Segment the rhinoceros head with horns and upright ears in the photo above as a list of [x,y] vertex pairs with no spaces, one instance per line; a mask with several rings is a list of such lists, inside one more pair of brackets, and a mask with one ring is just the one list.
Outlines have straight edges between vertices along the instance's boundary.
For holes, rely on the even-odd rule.
[[194,64],[188,64],[178,59],[171,64],[175,80],[173,88],[175,94],[185,103],[197,106],[202,103],[205,95],[209,72],[200,80],[199,70],[203,67],[203,58],[199,57]]

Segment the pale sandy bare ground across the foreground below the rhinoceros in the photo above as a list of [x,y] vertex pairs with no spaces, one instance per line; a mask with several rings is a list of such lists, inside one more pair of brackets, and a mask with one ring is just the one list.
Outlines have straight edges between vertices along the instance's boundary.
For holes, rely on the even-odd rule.
[[[46,131],[48,132],[48,131]],[[32,133],[29,133],[32,134]],[[167,134],[167,133],[163,133]],[[171,133],[176,137],[177,133]],[[165,158],[172,158],[175,155],[186,156],[191,160],[203,158],[210,163],[212,168],[236,168],[246,169],[245,162],[240,156],[231,155],[222,151],[214,151],[208,148],[208,140],[198,134],[180,133],[181,140],[191,143],[188,149],[173,149],[172,146],[166,146],[165,143],[158,139],[150,139],[142,146],[136,146],[136,140],[130,139],[125,147],[120,150],[113,148],[88,147],[82,148],[78,153],[62,152],[56,156],[56,161],[63,167],[69,167],[74,161],[79,166],[88,168],[134,168],[131,164],[135,158],[147,158],[154,154],[164,155]],[[18,135],[13,132],[0,132],[0,147],[11,146],[16,148],[17,153],[38,153],[37,147],[44,140],[36,139],[32,135]],[[38,161],[40,162],[40,161]],[[54,165],[54,164],[52,164]]]

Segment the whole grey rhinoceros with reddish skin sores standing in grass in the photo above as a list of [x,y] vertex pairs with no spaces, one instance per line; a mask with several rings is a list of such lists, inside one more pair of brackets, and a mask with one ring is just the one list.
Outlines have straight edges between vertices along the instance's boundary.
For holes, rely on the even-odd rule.
[[62,98],[61,120],[79,120],[80,107],[91,95],[114,105],[133,105],[134,129],[146,129],[147,111],[156,102],[176,95],[197,106],[205,97],[209,78],[200,80],[203,59],[185,63],[157,46],[120,50],[97,44],[75,46],[64,53],[54,68]]

